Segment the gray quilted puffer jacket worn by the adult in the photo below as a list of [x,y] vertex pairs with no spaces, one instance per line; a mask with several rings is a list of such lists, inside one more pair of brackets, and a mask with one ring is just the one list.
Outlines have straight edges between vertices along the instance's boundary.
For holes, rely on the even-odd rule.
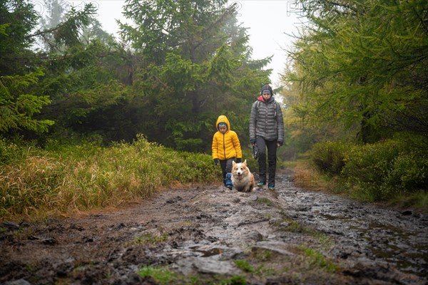
[[281,144],[284,142],[284,120],[280,104],[276,103],[274,98],[264,102],[260,96],[251,108],[250,141],[259,136]]

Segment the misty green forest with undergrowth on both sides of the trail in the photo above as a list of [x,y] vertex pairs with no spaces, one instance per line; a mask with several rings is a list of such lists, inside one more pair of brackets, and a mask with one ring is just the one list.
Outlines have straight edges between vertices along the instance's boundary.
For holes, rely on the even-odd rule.
[[[252,58],[237,5],[126,0],[133,24],[119,22],[115,37],[93,4],[66,11],[65,2],[44,0],[39,15],[32,1],[0,0],[1,216],[213,182],[222,114],[249,156],[250,107],[272,58]],[[306,22],[274,90],[281,162],[309,161],[333,192],[427,209],[427,1],[295,5]]]

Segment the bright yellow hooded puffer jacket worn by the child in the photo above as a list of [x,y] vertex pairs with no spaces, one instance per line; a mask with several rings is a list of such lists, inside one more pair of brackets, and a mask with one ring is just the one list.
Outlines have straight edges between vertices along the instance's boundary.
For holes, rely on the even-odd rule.
[[[222,134],[218,130],[219,123],[226,123],[228,130]],[[225,115],[220,115],[215,123],[217,132],[213,136],[213,160],[218,158],[219,160],[228,160],[229,158],[243,158],[243,152],[240,148],[240,142],[238,135],[230,130],[230,123]]]

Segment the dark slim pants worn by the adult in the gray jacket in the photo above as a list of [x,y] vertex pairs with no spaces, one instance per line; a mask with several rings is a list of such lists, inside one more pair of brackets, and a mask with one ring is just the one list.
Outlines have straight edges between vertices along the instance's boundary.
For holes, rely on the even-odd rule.
[[259,179],[260,182],[266,183],[266,149],[267,149],[267,165],[269,166],[269,180],[268,186],[275,187],[275,172],[276,172],[276,140],[265,140],[262,137],[255,139],[258,148],[258,162],[259,162]]

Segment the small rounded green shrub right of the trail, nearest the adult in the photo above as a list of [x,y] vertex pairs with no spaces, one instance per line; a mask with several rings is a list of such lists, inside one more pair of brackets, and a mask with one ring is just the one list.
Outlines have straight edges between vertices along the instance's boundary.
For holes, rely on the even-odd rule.
[[344,142],[318,142],[310,151],[317,170],[327,175],[340,175],[345,166],[345,153],[351,145]]

